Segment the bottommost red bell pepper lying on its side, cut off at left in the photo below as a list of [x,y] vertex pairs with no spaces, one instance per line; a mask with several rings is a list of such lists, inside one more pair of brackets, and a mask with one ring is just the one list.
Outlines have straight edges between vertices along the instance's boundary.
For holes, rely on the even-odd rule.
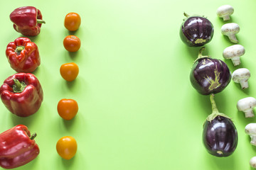
[[13,169],[31,162],[39,154],[39,147],[25,125],[16,125],[0,134],[0,166]]

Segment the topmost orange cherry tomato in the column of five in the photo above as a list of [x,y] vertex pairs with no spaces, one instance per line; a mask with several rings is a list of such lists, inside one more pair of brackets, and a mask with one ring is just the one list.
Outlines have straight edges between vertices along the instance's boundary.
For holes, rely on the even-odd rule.
[[81,24],[81,18],[78,13],[68,13],[65,16],[64,26],[70,31],[78,30]]

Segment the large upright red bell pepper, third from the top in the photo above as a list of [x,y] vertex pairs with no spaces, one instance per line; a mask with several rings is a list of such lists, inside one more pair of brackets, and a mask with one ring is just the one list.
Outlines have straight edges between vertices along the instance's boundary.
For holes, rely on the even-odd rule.
[[43,101],[43,89],[35,75],[17,73],[0,87],[1,101],[15,115],[27,117],[38,111]]

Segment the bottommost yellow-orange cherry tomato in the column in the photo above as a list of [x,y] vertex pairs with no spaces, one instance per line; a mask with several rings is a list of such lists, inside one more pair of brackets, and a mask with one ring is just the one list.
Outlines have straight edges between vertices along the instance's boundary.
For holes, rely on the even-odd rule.
[[77,152],[78,144],[74,137],[65,136],[58,140],[56,150],[63,159],[71,159]]

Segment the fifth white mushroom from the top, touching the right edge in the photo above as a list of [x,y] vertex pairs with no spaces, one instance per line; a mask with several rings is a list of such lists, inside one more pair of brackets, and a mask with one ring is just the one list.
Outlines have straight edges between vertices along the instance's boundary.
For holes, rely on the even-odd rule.
[[245,113],[245,118],[254,117],[253,108],[256,106],[256,99],[253,97],[242,98],[237,103],[238,111]]

